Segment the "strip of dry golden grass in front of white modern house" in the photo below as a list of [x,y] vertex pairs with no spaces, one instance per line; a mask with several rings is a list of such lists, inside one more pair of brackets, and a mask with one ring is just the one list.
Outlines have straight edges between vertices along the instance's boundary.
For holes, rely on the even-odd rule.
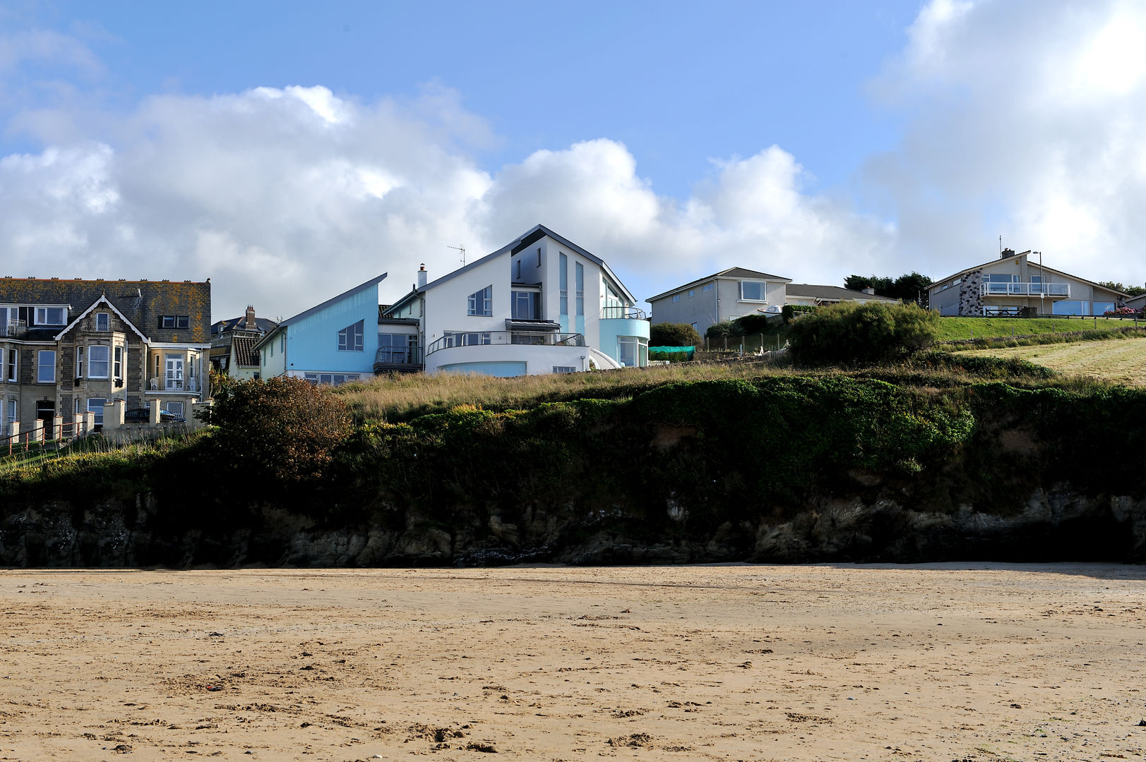
[[494,378],[476,374],[390,375],[336,390],[359,421],[406,421],[458,404],[507,410],[576,398],[618,398],[676,382],[760,378],[791,372],[772,363],[689,363],[588,374]]

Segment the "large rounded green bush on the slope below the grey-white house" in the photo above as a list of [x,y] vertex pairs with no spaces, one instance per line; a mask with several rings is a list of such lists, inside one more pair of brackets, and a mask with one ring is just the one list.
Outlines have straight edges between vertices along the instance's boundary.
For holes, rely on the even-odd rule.
[[788,340],[802,364],[888,362],[931,346],[939,320],[917,305],[845,301],[794,321]]

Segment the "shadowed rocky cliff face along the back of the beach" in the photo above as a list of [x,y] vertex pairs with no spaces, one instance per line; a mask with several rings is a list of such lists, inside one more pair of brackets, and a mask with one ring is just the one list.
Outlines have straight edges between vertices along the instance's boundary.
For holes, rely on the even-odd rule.
[[[623,511],[578,514],[531,506],[507,517],[461,511],[442,527],[408,513],[355,526],[319,526],[265,508],[238,529],[164,528],[154,497],[109,500],[74,511],[52,502],[10,511],[0,525],[0,564],[48,567],[486,566],[513,563],[684,564],[937,560],[1146,561],[1146,500],[1038,490],[1021,510],[951,513],[889,501],[834,498],[782,521],[722,523],[650,537]],[[670,520],[688,517],[673,501]],[[508,520],[512,519],[512,521]]]

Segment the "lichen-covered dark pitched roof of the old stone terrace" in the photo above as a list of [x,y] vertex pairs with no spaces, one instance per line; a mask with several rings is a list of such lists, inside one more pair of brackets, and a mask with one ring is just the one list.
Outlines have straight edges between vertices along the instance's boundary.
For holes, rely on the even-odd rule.
[[[140,333],[152,341],[211,343],[211,282],[191,281],[81,281],[62,278],[0,277],[0,304],[34,307],[68,305],[69,321],[101,296],[115,305]],[[163,315],[187,315],[188,327],[163,328]],[[29,338],[50,339],[58,329],[33,329]],[[37,336],[32,336],[36,333]]]

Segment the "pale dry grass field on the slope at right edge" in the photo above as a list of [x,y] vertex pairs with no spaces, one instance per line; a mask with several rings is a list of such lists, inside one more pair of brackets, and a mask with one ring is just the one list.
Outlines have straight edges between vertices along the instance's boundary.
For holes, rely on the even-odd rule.
[[1146,337],[1123,341],[1076,341],[974,349],[960,354],[1019,358],[1063,374],[1078,374],[1115,384],[1146,385]]

